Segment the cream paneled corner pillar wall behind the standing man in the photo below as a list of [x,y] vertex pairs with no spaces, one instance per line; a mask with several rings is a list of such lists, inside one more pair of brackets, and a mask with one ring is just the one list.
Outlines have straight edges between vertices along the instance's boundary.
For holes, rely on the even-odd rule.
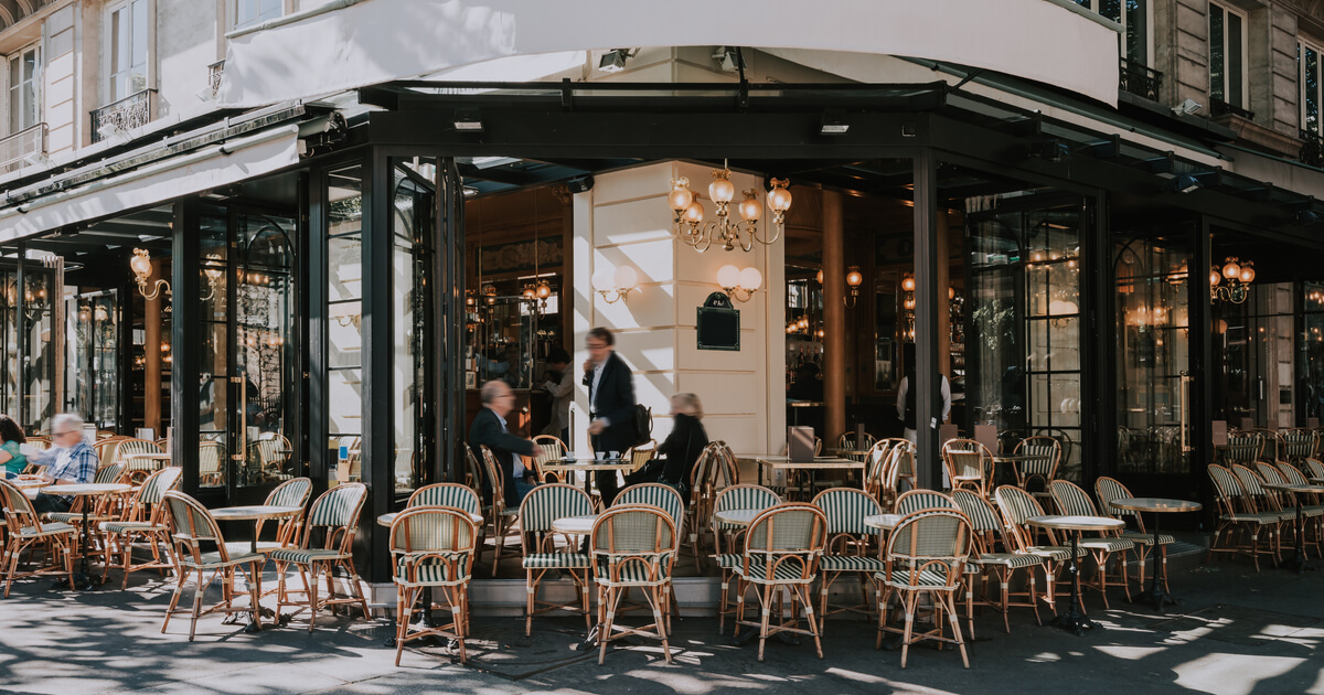
[[[671,179],[687,176],[706,199],[710,171],[679,162],[651,164],[600,175],[592,191],[575,196],[576,361],[585,356],[588,330],[608,327],[616,332],[618,353],[634,371],[636,397],[653,408],[654,438],[663,440],[671,429],[670,396],[688,391],[703,401],[710,438],[726,440],[741,453],[779,451],[785,440],[784,246],[779,241],[749,253],[714,248],[700,254],[673,234],[666,201]],[[761,175],[735,173],[732,183],[737,192],[764,188]],[[760,200],[765,201],[765,193]],[[711,201],[704,203],[712,220]],[[763,287],[748,303],[736,303],[740,349],[699,351],[696,308],[718,290],[716,271],[726,263],[757,267]],[[639,291],[630,293],[628,302],[606,303],[591,291],[592,277],[622,265],[638,271]],[[580,413],[588,412],[583,387],[576,405]],[[577,416],[576,429],[585,425],[587,417]],[[587,449],[583,434],[575,446]]]

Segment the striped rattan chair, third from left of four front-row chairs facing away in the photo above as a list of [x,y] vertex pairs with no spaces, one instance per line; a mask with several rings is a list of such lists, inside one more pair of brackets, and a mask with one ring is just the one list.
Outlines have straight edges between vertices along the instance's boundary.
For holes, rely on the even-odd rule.
[[[813,637],[818,658],[824,658],[810,589],[818,576],[818,563],[826,545],[828,516],[813,504],[801,502],[777,504],[764,510],[749,524],[740,564],[733,568],[737,582],[735,637],[740,637],[741,625],[757,627],[760,662],[765,642],[779,633]],[[749,589],[756,589],[755,594],[759,597],[761,620],[757,622],[744,620],[744,597]],[[782,620],[782,592],[792,597],[789,621]],[[800,627],[796,604],[805,610],[804,627]],[[773,613],[777,614],[776,624],[771,622]]]

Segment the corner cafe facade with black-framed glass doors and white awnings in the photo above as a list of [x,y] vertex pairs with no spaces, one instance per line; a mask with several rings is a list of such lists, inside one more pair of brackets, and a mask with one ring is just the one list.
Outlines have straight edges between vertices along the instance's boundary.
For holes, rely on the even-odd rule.
[[[545,356],[577,371],[594,326],[658,441],[677,392],[736,451],[780,453],[788,425],[899,437],[911,376],[923,486],[978,428],[1058,438],[1082,483],[1206,498],[1219,422],[1319,426],[1324,171],[1128,71],[1128,25],[1068,4],[1012,3],[1035,56],[863,4],[888,28],[833,46],[804,36],[839,17],[740,25],[747,3],[711,37],[606,5],[569,30],[538,3],[265,23],[229,37],[211,115],[4,181],[3,409],[168,429],[209,506],[363,481],[383,585],[372,519],[462,479],[477,387],[510,381],[539,433]],[[906,19],[956,5],[998,20]],[[395,30],[355,32],[367,12]],[[392,53],[410,25],[426,49]],[[461,26],[491,41],[424,40]]]

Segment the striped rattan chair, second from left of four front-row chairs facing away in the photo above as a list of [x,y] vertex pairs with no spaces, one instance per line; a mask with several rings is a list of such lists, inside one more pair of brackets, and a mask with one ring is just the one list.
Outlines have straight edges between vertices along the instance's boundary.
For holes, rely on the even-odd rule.
[[[589,535],[593,577],[597,581],[598,666],[606,659],[606,645],[626,635],[662,641],[662,655],[671,663],[667,642],[667,610],[671,572],[679,551],[671,515],[646,504],[613,506],[598,515]],[[653,609],[653,622],[624,626],[616,622],[621,600],[629,589],[641,589]]]

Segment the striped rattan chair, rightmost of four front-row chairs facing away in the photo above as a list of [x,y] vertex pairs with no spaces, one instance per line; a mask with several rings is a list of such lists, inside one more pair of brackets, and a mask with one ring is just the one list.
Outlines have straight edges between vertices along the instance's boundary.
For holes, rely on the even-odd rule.
[[[900,631],[902,669],[906,667],[910,646],[923,639],[956,645],[961,651],[961,662],[969,669],[970,658],[965,651],[965,637],[956,614],[956,594],[961,589],[965,564],[973,549],[970,522],[959,510],[927,510],[902,519],[887,537],[887,569],[874,576],[883,589],[874,649],[882,646],[884,631]],[[904,606],[903,630],[887,626],[887,605],[892,596]],[[935,609],[935,629],[925,633],[914,630],[922,596],[928,596]],[[944,635],[944,614],[952,637]]]

